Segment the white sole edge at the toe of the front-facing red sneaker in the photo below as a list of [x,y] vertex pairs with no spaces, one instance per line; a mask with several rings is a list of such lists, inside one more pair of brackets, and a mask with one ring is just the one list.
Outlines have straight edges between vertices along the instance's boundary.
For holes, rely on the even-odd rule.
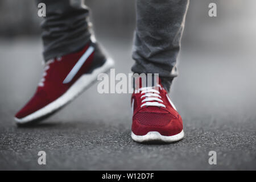
[[158,133],[158,131],[150,131],[146,135],[135,135],[133,131],[131,131],[131,138],[135,142],[177,142],[184,137],[184,131],[182,130],[180,133],[173,135],[173,136],[164,136]]

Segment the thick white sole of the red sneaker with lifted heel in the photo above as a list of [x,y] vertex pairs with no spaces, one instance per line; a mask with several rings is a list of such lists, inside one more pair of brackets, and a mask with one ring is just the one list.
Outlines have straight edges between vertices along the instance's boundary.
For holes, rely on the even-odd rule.
[[65,92],[62,96],[57,98],[55,101],[51,102],[50,104],[44,106],[42,109],[35,111],[34,113],[27,115],[24,118],[16,118],[14,117],[15,121],[18,124],[24,124],[35,119],[39,119],[44,115],[52,113],[56,111],[60,107],[68,104],[68,102],[75,99],[79,94],[81,94],[86,88],[88,88],[94,81],[97,80],[98,74],[108,72],[110,68],[113,68],[114,61],[111,58],[108,58],[104,65],[99,68],[94,69],[94,71],[90,74],[82,75],[72,86]]

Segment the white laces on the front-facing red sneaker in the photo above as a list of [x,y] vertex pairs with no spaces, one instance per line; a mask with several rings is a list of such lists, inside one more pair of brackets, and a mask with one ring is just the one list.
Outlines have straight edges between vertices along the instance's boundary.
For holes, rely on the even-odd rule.
[[[161,90],[162,90],[162,86],[161,85],[156,85],[158,86]],[[141,96],[141,98],[144,97],[144,99],[142,100],[142,105],[143,106],[158,106],[158,107],[164,107],[166,108],[166,106],[163,104],[163,100],[161,100],[161,96],[159,95],[160,92],[152,87],[144,87],[144,88],[140,88],[138,89],[137,92],[141,91],[141,94],[143,94]],[[155,101],[155,102],[152,102]]]

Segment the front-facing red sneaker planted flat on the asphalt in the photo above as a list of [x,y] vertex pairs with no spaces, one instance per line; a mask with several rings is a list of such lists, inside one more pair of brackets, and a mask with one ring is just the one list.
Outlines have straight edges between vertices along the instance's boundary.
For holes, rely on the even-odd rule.
[[184,137],[182,119],[162,84],[135,90],[131,106],[135,142],[175,142]]

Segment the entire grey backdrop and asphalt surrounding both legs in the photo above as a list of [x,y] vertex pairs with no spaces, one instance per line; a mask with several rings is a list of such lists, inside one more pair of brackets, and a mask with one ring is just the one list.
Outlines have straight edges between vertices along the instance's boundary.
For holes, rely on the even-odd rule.
[[[135,1],[87,0],[96,38],[129,73]],[[217,17],[208,16],[210,2]],[[38,126],[13,115],[42,76],[42,18],[31,0],[0,1],[0,169],[256,169],[256,1],[192,0],[179,76],[171,89],[185,138],[167,145],[130,139],[130,95],[92,86]],[[89,105],[89,106],[88,106]],[[47,152],[39,166],[37,152]],[[217,165],[208,152],[217,152]]]

